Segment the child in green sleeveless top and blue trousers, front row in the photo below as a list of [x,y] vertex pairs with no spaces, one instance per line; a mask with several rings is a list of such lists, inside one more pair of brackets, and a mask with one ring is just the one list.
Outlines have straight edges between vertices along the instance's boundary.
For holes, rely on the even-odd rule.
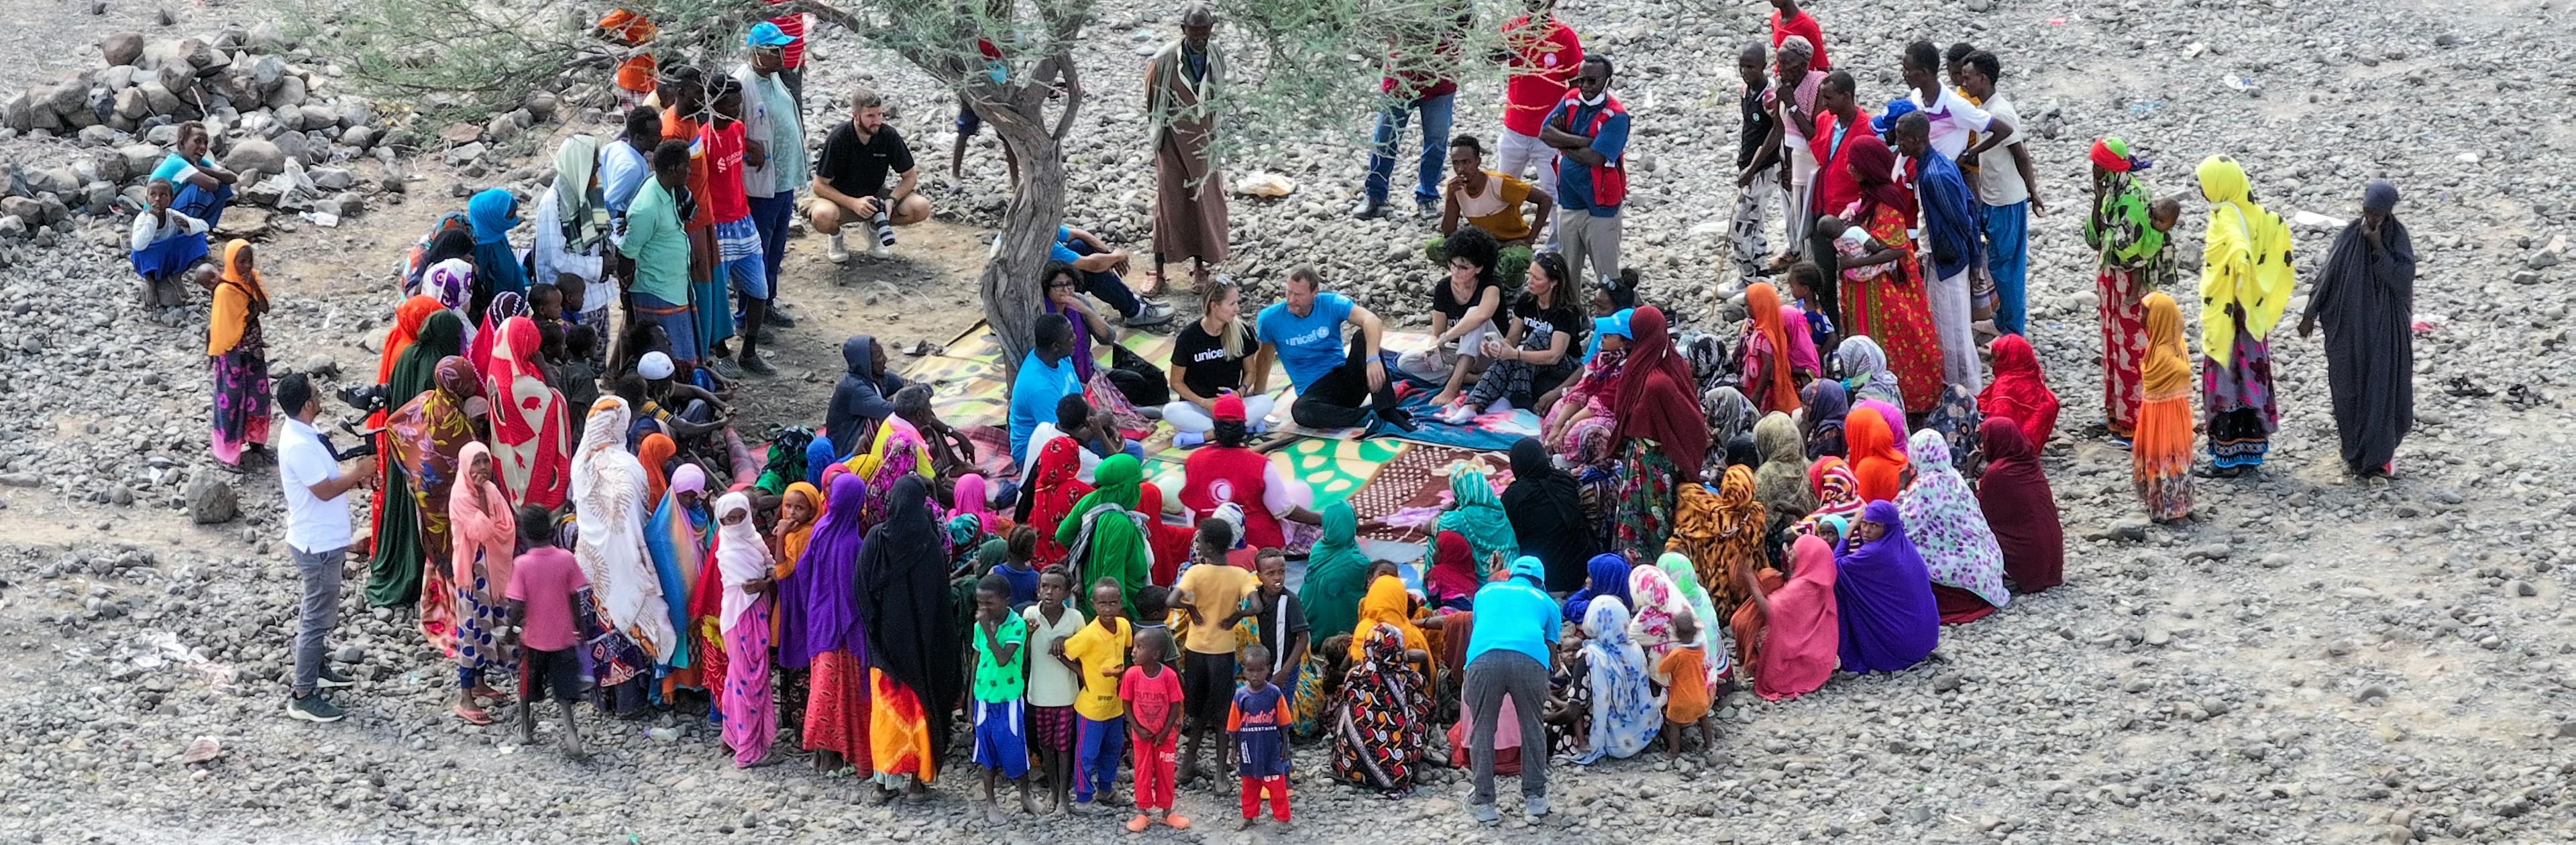
[[1010,580],[987,572],[974,585],[974,763],[984,768],[984,819],[1002,824],[1002,804],[992,796],[994,775],[1020,783],[1020,812],[1038,814],[1028,799],[1028,621],[1010,613]]

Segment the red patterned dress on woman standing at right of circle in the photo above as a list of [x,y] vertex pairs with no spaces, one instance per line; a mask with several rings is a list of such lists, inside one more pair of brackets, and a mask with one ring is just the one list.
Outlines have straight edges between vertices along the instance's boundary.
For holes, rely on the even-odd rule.
[[1888,371],[1906,399],[1906,412],[1929,412],[1940,402],[1940,335],[1932,332],[1932,304],[1924,299],[1922,263],[1914,258],[1914,240],[1906,237],[1906,216],[1893,206],[1875,206],[1865,224],[1875,247],[1904,252],[1886,273],[1870,278],[1842,276],[1842,319],[1847,335],[1870,335],[1888,350]]

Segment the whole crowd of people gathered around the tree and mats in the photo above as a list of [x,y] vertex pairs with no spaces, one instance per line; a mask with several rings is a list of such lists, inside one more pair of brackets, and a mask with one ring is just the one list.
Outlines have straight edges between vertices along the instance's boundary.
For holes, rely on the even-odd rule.
[[[732,425],[729,399],[770,371],[762,335],[786,322],[799,191],[829,260],[850,227],[884,252],[933,214],[873,93],[806,149],[793,15],[750,28],[729,75],[623,64],[621,137],[564,139],[533,204],[492,188],[443,216],[399,273],[376,376],[340,394],[368,410],[353,448],[319,425],[312,379],[268,379],[258,255],[206,245],[234,178],[206,160],[204,126],[183,126],[155,175],[134,268],[147,301],[211,289],[214,456],[237,466],[276,443],[304,574],[291,716],[345,714],[319,690],[350,678],[322,657],[343,562],[363,549],[366,603],[410,608],[456,662],[453,716],[492,724],[515,701],[526,742],[549,698],[572,752],[577,701],[703,714],[737,765],[806,755],[917,801],[966,757],[992,819],[1012,781],[1023,812],[1131,804],[1131,832],[1188,827],[1172,796],[1200,778],[1242,796],[1242,824],[1262,799],[1285,824],[1291,750],[1316,742],[1340,781],[1383,796],[1430,765],[1471,768],[1479,822],[1499,817],[1497,773],[1520,773],[1522,812],[1543,817],[1551,763],[1710,747],[1728,688],[1783,701],[1834,670],[1899,672],[1940,626],[2058,585],[2050,441],[2130,448],[2143,508],[2179,520],[2200,430],[2205,477],[2259,469],[2275,433],[2269,340],[2295,271],[2239,162],[2195,173],[2195,415],[2172,294],[2182,201],[2146,185],[2128,142],[2092,144],[2105,422],[2061,430],[2025,335],[2043,193],[2002,62],[1919,41],[1899,57],[1906,90],[1870,116],[1819,21],[1772,5],[1770,44],[1739,62],[1728,278],[1744,317],[1708,332],[1641,301],[1620,268],[1631,116],[1610,57],[1584,54],[1551,3],[1502,26],[1497,170],[1481,170],[1486,139],[1443,142],[1455,82],[1391,59],[1381,142],[1406,113],[1443,126],[1417,185],[1440,219],[1437,343],[1404,356],[1314,268],[1249,319],[1213,273],[1224,57],[1216,15],[1188,10],[1146,70],[1151,250],[1157,276],[1190,263],[1200,317],[1162,374],[1100,361],[1092,343],[1123,348],[1092,299],[1128,327],[1170,307],[1118,278],[1123,252],[1064,229],[1010,389],[1015,477],[987,477],[976,441],[866,335],[842,345],[819,428],[747,443]],[[626,10],[600,33],[652,41]],[[1391,155],[1363,216],[1383,214]],[[2414,250],[2396,204],[2385,183],[2365,191],[2298,325],[2326,325],[2354,474],[2393,474],[2409,428]],[[515,245],[523,211],[533,237]],[[1417,394],[1445,422],[1540,420],[1504,484],[1450,471],[1419,559],[1363,551],[1352,505],[1319,505],[1255,443],[1278,412],[1401,433]],[[1193,448],[1170,492],[1144,479],[1157,425]],[[374,492],[363,541],[353,489]]]

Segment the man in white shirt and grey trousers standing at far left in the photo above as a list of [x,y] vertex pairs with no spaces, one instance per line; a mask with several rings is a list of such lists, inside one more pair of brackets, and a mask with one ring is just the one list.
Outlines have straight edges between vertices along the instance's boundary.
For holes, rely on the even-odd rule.
[[345,688],[348,678],[325,662],[322,639],[340,626],[340,567],[348,559],[350,520],[343,500],[355,487],[376,487],[376,456],[363,456],[340,471],[330,441],[314,430],[322,399],[304,374],[278,379],[278,410],[291,412],[278,441],[278,487],[286,492],[286,554],[304,577],[304,611],[296,621],[296,680],[286,716],[340,721],[340,706],[317,696],[319,688]]

